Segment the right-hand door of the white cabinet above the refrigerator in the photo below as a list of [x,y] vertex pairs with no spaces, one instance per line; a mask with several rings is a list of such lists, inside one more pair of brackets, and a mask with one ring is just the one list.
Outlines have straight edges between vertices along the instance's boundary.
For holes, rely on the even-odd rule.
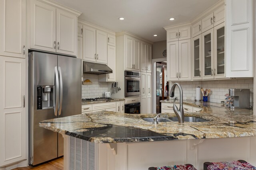
[[76,55],[77,17],[56,9],[56,42],[57,53]]

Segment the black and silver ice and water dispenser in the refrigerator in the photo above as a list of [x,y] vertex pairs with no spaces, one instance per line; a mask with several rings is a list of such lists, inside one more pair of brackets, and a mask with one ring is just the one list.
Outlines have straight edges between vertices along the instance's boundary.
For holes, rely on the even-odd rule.
[[37,109],[54,108],[54,86],[37,86]]

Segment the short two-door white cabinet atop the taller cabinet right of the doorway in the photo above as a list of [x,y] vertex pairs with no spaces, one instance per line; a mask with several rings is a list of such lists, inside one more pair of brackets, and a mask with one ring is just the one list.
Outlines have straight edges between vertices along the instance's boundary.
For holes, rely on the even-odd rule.
[[167,42],[190,39],[190,26],[167,30]]

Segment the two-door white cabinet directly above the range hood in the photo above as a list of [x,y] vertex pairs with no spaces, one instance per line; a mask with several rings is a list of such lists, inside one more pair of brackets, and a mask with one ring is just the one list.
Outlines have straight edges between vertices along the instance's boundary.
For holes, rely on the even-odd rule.
[[83,25],[83,60],[108,63],[107,33]]

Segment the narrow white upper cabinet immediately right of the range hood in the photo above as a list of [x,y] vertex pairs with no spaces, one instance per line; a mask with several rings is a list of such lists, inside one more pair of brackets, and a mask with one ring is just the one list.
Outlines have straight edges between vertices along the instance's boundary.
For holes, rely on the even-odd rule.
[[99,82],[115,82],[116,81],[116,47],[108,45],[108,64],[113,71],[110,74],[99,74]]

